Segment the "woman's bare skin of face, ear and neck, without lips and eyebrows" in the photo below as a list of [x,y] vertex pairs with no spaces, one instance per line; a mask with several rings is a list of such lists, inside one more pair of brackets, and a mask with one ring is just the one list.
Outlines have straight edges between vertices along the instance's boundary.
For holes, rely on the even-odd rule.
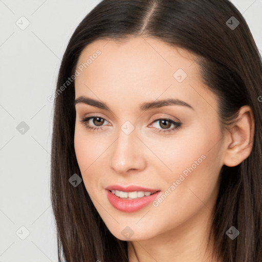
[[[201,82],[193,55],[155,38],[98,40],[83,50],[77,67],[97,49],[101,54],[75,80],[76,99],[85,96],[110,107],[76,104],[75,151],[94,206],[111,233],[128,241],[130,262],[217,261],[212,247],[205,251],[219,173],[223,165],[235,166],[249,156],[251,109],[243,106],[234,132],[222,133],[218,100]],[[173,76],[178,69],[187,74],[181,82]],[[192,108],[180,104],[139,110],[141,103],[170,98]],[[104,122],[99,125],[93,118],[85,124],[100,129],[80,122],[90,116]],[[166,118],[181,126],[171,130],[178,125],[161,124]],[[135,127],[129,135],[121,130],[126,121]],[[171,132],[164,133],[166,129]],[[189,167],[193,171],[179,183]],[[171,190],[173,182],[177,186]],[[155,206],[123,212],[106,197],[105,187],[113,184],[159,188],[163,194],[169,188],[169,194]],[[128,239],[121,233],[126,226],[134,232]]]

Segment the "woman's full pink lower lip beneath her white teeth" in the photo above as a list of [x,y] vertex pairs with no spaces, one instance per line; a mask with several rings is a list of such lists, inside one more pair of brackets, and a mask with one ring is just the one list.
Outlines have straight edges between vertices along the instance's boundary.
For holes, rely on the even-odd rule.
[[160,195],[161,191],[158,191],[151,195],[145,195],[143,198],[136,198],[136,199],[120,199],[115,194],[113,194],[110,190],[107,191],[107,198],[111,205],[118,209],[119,211],[124,212],[134,212],[142,209],[143,207],[147,206],[151,202],[153,202],[158,195]]

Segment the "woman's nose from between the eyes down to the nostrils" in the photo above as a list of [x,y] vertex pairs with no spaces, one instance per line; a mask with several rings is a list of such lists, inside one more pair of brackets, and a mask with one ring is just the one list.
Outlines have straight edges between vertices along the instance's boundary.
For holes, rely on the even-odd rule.
[[120,127],[117,136],[118,139],[113,146],[111,155],[111,167],[119,173],[124,173],[128,169],[143,168],[145,162],[135,126],[126,121]]

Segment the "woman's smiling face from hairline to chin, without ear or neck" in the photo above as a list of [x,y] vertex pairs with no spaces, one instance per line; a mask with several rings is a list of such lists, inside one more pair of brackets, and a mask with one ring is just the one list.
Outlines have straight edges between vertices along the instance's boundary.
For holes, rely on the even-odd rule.
[[[143,37],[97,40],[79,57],[75,97],[86,103],[75,105],[76,157],[94,206],[119,239],[178,233],[206,221],[214,206],[225,146],[217,99],[193,58]],[[120,198],[106,189],[116,185],[134,187]],[[143,197],[146,190],[158,192]]]

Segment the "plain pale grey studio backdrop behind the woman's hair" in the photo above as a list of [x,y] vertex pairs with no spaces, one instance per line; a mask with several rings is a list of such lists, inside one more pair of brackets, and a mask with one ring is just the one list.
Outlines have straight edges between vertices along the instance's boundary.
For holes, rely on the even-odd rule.
[[[72,33],[99,2],[0,1],[0,262],[57,261],[48,97]],[[262,0],[232,3],[262,54]]]

